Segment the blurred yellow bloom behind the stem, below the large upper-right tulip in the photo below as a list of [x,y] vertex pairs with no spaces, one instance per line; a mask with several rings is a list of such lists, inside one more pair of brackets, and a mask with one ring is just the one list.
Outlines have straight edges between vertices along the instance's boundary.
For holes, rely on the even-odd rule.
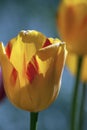
[[[66,59],[66,65],[73,75],[76,75],[77,72],[77,62],[78,62],[78,56],[76,54],[69,53]],[[87,82],[86,68],[87,68],[87,56],[84,56],[82,61],[81,77],[80,77],[80,80],[82,82]]]

